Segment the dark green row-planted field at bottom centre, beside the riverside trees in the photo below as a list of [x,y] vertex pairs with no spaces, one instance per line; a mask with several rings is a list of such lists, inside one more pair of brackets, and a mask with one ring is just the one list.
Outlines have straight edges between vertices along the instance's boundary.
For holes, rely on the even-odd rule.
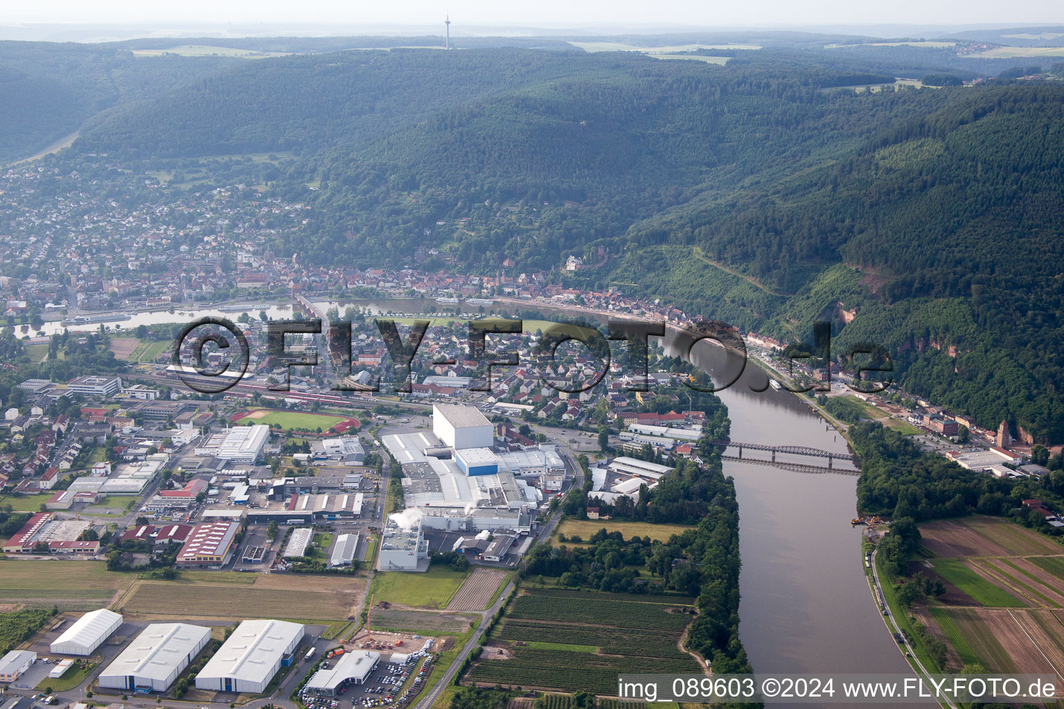
[[611,695],[618,673],[699,673],[679,647],[693,611],[667,596],[528,591],[466,679]]

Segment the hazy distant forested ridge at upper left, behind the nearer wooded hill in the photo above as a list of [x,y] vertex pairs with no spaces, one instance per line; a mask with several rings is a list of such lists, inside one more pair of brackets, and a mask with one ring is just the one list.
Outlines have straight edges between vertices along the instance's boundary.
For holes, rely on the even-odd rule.
[[605,56],[576,50],[395,49],[248,62],[110,114],[82,131],[78,148],[189,157],[344,145],[358,154],[370,141],[447,109],[573,71],[612,70]]

